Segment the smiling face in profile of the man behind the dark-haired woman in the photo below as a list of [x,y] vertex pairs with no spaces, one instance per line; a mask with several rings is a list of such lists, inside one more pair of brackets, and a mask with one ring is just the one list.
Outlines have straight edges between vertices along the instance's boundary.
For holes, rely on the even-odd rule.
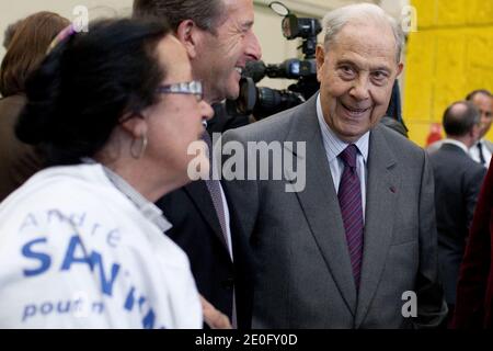
[[193,59],[195,79],[204,83],[205,100],[237,99],[241,70],[246,61],[261,58],[253,26],[251,0],[223,0],[225,14],[215,33],[202,31],[197,56]]

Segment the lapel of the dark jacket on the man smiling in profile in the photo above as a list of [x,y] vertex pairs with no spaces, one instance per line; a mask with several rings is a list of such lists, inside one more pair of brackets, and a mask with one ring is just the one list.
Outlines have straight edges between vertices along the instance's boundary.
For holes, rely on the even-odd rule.
[[197,206],[198,212],[205,218],[207,224],[213,229],[216,237],[221,241],[222,246],[226,250],[228,250],[228,246],[226,244],[225,237],[222,236],[221,226],[219,224],[219,219],[217,218],[216,211],[214,207],[213,200],[210,199],[209,191],[207,190],[207,185],[204,181],[198,180],[194,181],[184,186],[185,192],[192,199],[192,201]]

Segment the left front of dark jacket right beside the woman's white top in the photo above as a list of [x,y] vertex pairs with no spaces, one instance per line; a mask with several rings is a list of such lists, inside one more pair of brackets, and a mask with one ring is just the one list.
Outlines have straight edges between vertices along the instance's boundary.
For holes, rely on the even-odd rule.
[[156,204],[173,225],[167,235],[188,256],[199,293],[231,318],[233,264],[205,182],[192,182]]

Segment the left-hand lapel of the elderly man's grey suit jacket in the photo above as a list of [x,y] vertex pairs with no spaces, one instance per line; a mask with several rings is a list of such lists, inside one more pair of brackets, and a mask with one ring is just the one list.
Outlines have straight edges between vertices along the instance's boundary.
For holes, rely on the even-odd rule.
[[287,140],[307,143],[306,188],[296,195],[341,295],[354,315],[356,287],[337,195],[317,120],[316,98],[317,94],[299,110],[287,136]]

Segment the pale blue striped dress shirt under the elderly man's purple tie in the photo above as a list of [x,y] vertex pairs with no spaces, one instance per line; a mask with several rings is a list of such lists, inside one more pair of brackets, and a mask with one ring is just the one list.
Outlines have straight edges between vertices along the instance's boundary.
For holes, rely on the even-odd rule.
[[[349,143],[341,140],[326,124],[325,120],[323,118],[320,94],[317,98],[317,117],[319,120],[320,131],[322,133],[323,147],[325,149],[326,159],[331,169],[334,189],[337,193],[341,177],[344,171],[344,162],[337,156],[349,145]],[[353,143],[358,149],[356,156],[356,172],[358,174],[362,186],[363,219],[365,219],[366,210],[366,182],[368,177],[366,167],[368,162],[369,134],[370,132],[365,133],[356,143]]]

